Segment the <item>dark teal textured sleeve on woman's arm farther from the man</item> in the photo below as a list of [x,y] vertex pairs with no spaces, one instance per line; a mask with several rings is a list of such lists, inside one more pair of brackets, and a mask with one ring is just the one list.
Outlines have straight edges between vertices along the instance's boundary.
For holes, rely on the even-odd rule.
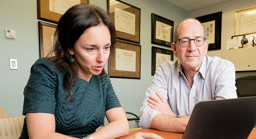
[[23,115],[26,113],[55,113],[56,70],[48,59],[40,58],[31,67],[24,88]]

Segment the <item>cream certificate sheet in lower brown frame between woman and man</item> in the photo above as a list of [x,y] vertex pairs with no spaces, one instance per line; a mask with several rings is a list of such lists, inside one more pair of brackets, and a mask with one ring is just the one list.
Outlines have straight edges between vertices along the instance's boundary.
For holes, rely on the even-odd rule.
[[136,52],[116,48],[116,69],[136,71]]

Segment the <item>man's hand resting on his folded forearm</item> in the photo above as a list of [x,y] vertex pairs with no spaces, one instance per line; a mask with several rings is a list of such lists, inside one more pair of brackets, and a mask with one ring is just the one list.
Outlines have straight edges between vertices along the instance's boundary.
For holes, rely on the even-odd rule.
[[166,114],[170,116],[176,116],[171,110],[169,104],[166,102],[165,97],[162,96],[159,92],[156,92],[156,95],[160,98],[149,96],[148,106],[152,109],[157,110],[161,114]]

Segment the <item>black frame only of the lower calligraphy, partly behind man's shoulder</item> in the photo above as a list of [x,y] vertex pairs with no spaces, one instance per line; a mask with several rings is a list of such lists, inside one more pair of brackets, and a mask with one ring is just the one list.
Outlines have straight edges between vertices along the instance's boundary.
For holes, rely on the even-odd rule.
[[[172,50],[152,46],[151,75],[154,75],[155,71],[157,70],[156,69],[156,64],[157,64],[156,53],[170,55],[171,56],[170,61],[173,61],[173,51]],[[162,63],[163,62],[159,63],[159,65]]]

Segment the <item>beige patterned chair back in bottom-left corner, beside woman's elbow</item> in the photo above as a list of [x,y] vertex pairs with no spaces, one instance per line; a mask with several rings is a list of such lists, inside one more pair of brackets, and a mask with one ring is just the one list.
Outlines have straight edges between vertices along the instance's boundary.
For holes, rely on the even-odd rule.
[[18,139],[25,117],[0,119],[0,139]]

